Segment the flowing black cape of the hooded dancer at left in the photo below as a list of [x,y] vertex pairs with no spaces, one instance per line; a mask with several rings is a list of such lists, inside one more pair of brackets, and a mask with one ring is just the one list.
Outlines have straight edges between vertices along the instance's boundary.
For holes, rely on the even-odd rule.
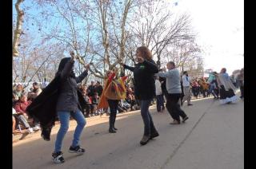
[[[58,100],[58,86],[61,85],[61,77],[57,76],[26,108],[26,112],[36,117],[42,128],[42,138],[50,140],[51,128],[57,116],[56,104]],[[82,93],[78,90],[78,108],[83,112],[86,105]]]

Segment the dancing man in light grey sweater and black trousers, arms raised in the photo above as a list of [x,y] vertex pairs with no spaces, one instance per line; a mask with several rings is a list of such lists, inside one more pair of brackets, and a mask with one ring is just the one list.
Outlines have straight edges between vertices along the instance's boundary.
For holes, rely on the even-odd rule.
[[166,108],[170,113],[170,116],[174,119],[174,122],[170,124],[180,124],[179,116],[182,116],[182,122],[184,123],[188,119],[188,116],[186,116],[185,112],[178,104],[178,100],[180,100],[182,93],[179,71],[175,68],[173,61],[167,63],[167,69],[168,72],[158,73],[158,76],[166,77],[166,89],[168,92]]

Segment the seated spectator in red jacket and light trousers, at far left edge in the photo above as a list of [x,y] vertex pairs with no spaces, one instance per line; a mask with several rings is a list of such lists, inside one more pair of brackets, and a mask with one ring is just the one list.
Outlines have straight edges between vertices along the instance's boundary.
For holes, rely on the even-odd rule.
[[18,120],[22,122],[25,128],[28,130],[29,133],[34,131],[38,131],[39,125],[36,124],[34,128],[30,128],[30,124],[28,124],[28,116],[26,114],[26,108],[30,105],[30,101],[27,100],[26,93],[23,93],[20,100],[15,104],[14,109],[17,112]]

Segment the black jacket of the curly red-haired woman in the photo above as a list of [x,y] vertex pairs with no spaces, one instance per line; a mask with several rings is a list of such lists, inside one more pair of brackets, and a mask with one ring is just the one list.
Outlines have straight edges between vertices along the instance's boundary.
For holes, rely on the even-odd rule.
[[150,100],[155,96],[154,73],[158,66],[153,60],[138,63],[135,67],[124,65],[125,69],[134,72],[134,95],[138,100]]

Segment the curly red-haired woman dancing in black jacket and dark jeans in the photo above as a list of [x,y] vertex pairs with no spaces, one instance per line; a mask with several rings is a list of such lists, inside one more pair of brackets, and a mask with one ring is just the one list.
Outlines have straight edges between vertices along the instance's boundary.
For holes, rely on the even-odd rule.
[[154,74],[158,73],[158,66],[152,60],[152,53],[146,46],[136,51],[138,64],[135,67],[123,65],[134,73],[134,94],[138,98],[144,123],[144,134],[140,143],[145,145],[150,139],[159,136],[149,112],[151,101],[155,96]]

